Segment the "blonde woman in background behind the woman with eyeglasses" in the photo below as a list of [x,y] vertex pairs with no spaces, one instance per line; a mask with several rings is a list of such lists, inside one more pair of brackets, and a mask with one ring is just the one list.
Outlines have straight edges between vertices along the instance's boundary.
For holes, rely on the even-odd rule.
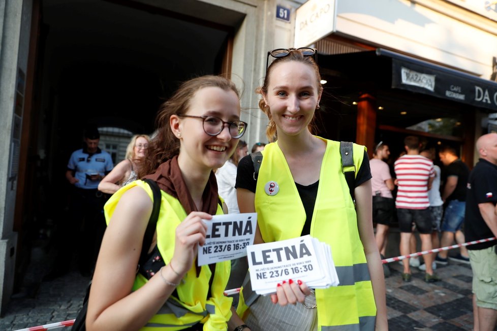
[[145,157],[150,137],[147,135],[134,135],[126,148],[125,159],[105,176],[99,183],[99,191],[114,194],[119,188],[136,180],[137,166]]

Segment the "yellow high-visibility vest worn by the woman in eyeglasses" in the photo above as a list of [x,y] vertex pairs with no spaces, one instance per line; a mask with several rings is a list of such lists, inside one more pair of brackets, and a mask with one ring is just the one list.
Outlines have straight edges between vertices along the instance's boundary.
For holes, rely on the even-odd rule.
[[[140,186],[150,198],[152,191],[147,183],[137,180],[115,192],[105,204],[104,212],[107,223],[109,222],[119,198],[132,187]],[[167,264],[174,253],[175,229],[187,217],[187,213],[179,201],[162,191],[161,209],[157,221],[157,246],[164,262]],[[216,215],[223,214],[222,207],[218,205]],[[214,278],[209,292],[209,280],[212,272],[209,266],[202,266],[197,277],[196,268],[192,268],[176,287],[178,297],[170,296],[164,306],[154,315],[148,323],[141,328],[145,331],[181,330],[204,323],[204,331],[221,331],[227,329],[227,321],[231,317],[232,298],[225,296],[224,290],[230,276],[230,261],[216,263]],[[137,290],[147,282],[141,274],[137,274],[133,290]]]

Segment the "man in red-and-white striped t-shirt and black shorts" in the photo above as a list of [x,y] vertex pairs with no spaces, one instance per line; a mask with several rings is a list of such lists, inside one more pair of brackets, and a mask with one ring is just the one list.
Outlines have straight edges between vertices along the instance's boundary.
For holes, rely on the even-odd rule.
[[[394,164],[397,197],[395,207],[397,208],[398,224],[400,229],[400,255],[410,253],[409,242],[411,240],[413,223],[419,231],[422,250],[430,250],[431,246],[431,215],[429,212],[430,202],[428,200],[428,190],[435,176],[433,162],[419,155],[419,138],[408,136],[404,140],[406,155],[400,156]],[[431,262],[432,254],[424,255],[426,265],[426,282],[440,280],[433,273]],[[402,279],[411,281],[411,269],[409,259],[403,259]]]

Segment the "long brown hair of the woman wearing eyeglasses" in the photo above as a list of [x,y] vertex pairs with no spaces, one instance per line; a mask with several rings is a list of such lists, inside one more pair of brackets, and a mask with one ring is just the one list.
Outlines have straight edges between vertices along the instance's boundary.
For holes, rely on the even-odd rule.
[[169,118],[171,115],[184,115],[190,108],[194,94],[204,87],[219,87],[233,91],[238,97],[235,84],[221,76],[202,76],[182,83],[171,98],[159,108],[156,118],[157,134],[148,145],[147,156],[139,168],[138,178],[152,174],[161,163],[179,154],[179,140],[174,136]]

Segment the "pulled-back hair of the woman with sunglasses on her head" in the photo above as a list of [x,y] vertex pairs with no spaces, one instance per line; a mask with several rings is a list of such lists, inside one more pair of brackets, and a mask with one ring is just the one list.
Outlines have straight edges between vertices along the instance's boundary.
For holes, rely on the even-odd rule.
[[[291,50],[290,53],[287,56],[284,57],[278,57],[276,58],[267,68],[266,71],[266,77],[264,78],[264,84],[262,86],[259,86],[256,89],[256,93],[259,93],[261,95],[267,95],[267,88],[269,86],[269,78],[271,76],[271,72],[275,65],[278,63],[284,63],[284,62],[291,62],[291,61],[296,61],[296,62],[301,62],[304,64],[308,64],[311,67],[313,67],[314,72],[316,73],[316,81],[317,81],[317,87],[318,87],[318,93],[321,93],[323,90],[323,86],[321,85],[321,75],[319,74],[319,67],[314,61],[312,56],[304,56],[301,52],[298,50]],[[266,114],[266,116],[269,119],[269,124],[267,125],[266,128],[266,136],[269,142],[274,142],[277,139],[276,135],[276,124],[274,123],[274,120],[271,117],[271,113],[269,111],[269,107],[265,106],[264,98],[261,98],[259,100],[259,108]],[[309,123],[309,130],[312,131],[314,127],[314,120]]]

